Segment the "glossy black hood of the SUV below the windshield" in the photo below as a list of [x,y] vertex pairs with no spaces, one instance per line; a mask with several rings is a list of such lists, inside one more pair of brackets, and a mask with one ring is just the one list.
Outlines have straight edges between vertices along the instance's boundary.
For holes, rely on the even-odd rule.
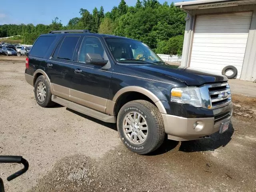
[[155,78],[155,80],[159,80],[161,78],[163,81],[167,82],[168,80],[174,79],[187,85],[200,86],[206,83],[228,81],[226,76],[210,74],[208,72],[188,68],[178,68],[178,66],[167,64],[130,64],[129,67],[134,68],[134,70],[138,72],[143,70],[144,73],[148,75],[151,74],[151,79]]

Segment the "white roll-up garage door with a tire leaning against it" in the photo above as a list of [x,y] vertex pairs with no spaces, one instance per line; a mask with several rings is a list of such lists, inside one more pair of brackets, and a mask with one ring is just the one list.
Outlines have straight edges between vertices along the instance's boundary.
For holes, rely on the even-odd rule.
[[190,67],[221,74],[232,65],[240,78],[252,12],[198,15]]

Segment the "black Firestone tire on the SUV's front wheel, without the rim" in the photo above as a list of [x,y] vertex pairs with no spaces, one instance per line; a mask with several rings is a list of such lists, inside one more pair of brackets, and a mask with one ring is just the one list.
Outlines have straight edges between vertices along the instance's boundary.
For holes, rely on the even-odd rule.
[[[129,113],[134,111],[143,116],[148,127],[147,137],[142,144],[130,142],[123,130],[124,119]],[[125,146],[138,154],[153,152],[162,145],[165,138],[164,122],[161,113],[154,104],[145,100],[131,101],[122,106],[117,117],[117,129]]]

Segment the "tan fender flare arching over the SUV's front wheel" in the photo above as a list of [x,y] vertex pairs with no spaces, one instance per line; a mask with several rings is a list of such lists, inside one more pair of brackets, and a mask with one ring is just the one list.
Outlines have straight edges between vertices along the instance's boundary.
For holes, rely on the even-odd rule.
[[111,111],[114,112],[114,107],[115,107],[116,101],[118,100],[118,98],[120,98],[120,96],[122,96],[122,94],[124,94],[126,92],[138,92],[138,93],[144,94],[145,96],[150,98],[154,102],[154,104],[156,104],[156,106],[157,106],[158,110],[160,111],[160,113],[167,114],[166,110],[164,108],[164,105],[158,99],[158,97],[155,94],[153,94],[150,90],[147,90],[147,89],[139,87],[139,86],[127,86],[127,87],[124,87],[124,88],[120,89],[115,94],[115,96],[114,96],[114,98],[112,100],[112,102],[114,102],[114,104],[112,104],[113,109]]

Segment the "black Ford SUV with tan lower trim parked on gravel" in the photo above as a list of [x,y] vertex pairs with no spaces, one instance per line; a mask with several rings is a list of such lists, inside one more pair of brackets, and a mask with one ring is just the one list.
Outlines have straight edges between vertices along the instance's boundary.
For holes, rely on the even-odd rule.
[[122,142],[138,154],[165,136],[195,140],[228,129],[227,78],[164,63],[142,42],[90,33],[41,35],[26,58],[26,81],[42,107],[54,103],[116,123]]

